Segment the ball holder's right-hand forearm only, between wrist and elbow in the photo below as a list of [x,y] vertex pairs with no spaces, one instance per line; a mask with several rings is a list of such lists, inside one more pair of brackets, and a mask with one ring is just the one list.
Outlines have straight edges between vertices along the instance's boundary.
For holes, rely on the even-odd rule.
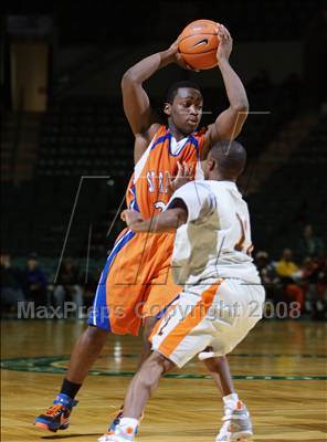
[[249,101],[246,91],[239,75],[225,59],[219,61],[219,69],[225,85],[230,106],[239,112],[247,112]]

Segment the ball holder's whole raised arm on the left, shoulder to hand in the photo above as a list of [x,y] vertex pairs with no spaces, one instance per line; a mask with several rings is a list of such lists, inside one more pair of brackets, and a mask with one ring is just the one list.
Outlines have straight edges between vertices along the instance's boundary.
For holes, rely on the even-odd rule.
[[[188,67],[178,53],[177,42],[168,50],[141,60],[126,71],[123,76],[124,110],[134,135],[140,138],[140,150],[143,150],[143,138],[145,144],[147,144],[158,128],[157,118],[152,112],[149,97],[143,87],[143,83],[170,63],[178,63],[182,67]],[[143,154],[143,151],[139,154]],[[136,152],[136,157],[138,156],[138,152]]]

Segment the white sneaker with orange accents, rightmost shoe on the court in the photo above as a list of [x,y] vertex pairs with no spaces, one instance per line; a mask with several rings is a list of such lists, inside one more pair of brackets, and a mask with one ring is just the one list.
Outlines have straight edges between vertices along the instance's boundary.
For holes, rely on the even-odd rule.
[[224,422],[215,442],[247,442],[253,436],[250,413],[243,402],[225,403]]

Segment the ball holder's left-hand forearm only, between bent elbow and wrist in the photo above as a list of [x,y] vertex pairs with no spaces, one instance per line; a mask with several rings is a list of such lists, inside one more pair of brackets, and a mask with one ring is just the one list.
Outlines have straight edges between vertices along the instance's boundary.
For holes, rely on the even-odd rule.
[[131,66],[128,71],[126,71],[124,78],[128,78],[137,83],[143,83],[151,75],[154,75],[155,72],[159,71],[161,67],[167,66],[173,61],[173,51],[171,49],[162,52],[157,52],[156,54],[149,55]]

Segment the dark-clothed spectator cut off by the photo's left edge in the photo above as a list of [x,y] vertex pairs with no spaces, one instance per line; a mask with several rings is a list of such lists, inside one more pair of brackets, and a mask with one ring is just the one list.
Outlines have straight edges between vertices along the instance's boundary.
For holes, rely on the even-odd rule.
[[1,254],[1,311],[9,307],[17,312],[18,302],[24,302],[25,296],[22,291],[23,277],[19,269],[11,265],[11,256]]

